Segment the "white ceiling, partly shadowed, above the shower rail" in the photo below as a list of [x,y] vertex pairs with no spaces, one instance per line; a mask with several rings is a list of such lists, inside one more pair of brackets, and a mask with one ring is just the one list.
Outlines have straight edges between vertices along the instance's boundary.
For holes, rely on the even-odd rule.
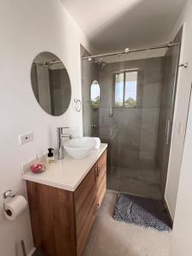
[[61,0],[97,52],[166,43],[186,0]]

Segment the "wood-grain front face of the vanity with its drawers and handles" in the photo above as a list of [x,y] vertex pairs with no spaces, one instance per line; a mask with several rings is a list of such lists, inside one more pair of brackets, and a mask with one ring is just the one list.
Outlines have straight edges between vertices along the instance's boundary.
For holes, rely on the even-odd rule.
[[107,153],[92,167],[90,172],[74,192],[74,211],[76,226],[77,255],[83,253],[84,245],[96,218],[96,212],[102,204],[106,192],[106,160]]

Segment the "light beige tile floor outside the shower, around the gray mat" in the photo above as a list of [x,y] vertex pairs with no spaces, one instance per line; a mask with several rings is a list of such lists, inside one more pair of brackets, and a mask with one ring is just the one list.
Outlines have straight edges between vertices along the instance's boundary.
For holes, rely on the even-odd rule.
[[146,230],[112,218],[117,192],[108,190],[83,256],[169,256],[171,233]]

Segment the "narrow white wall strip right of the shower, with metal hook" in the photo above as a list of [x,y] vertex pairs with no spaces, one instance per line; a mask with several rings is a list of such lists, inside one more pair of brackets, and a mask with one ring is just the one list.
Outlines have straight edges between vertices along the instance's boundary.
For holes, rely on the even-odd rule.
[[[191,4],[190,0],[188,5],[189,4]],[[167,206],[171,212],[172,218],[174,218],[175,215],[177,189],[180,177],[181,163],[183,158],[183,145],[188,117],[189,96],[192,81],[191,15],[191,9],[183,9],[181,15],[177,20],[176,26],[172,30],[172,35],[170,37],[170,39],[174,38],[180,27],[183,25],[183,42],[181,48],[180,63],[189,61],[189,67],[187,69],[185,69],[184,67],[179,67],[178,72],[177,96],[172,131],[172,144],[166,181],[165,198]],[[181,127],[181,129],[179,127]]]

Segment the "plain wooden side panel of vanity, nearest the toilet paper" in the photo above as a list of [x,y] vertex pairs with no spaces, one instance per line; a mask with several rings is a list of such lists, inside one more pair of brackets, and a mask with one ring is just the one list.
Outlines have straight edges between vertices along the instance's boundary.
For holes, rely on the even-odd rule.
[[75,256],[73,193],[26,182],[35,247],[49,256]]

